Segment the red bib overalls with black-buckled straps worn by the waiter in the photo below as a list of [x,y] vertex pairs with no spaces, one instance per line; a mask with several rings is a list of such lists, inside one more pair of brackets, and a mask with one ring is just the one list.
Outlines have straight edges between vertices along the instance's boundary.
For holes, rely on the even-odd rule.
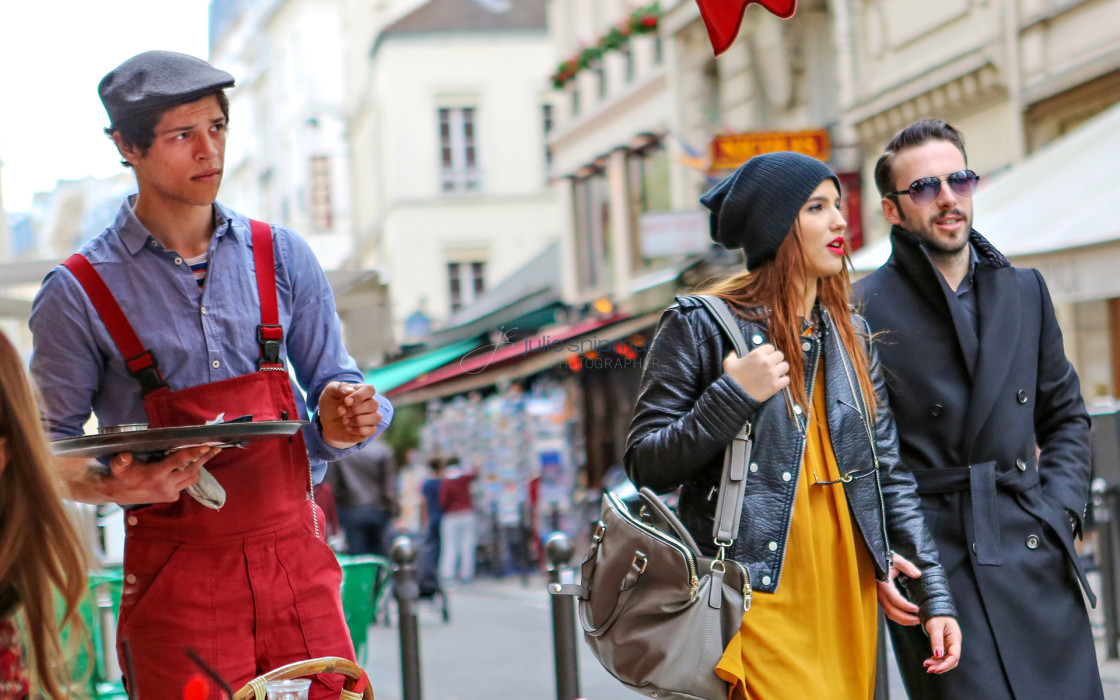
[[[288,372],[280,362],[272,232],[252,222],[261,301],[260,371],[171,391],[112,293],[81,255],[64,263],[97,309],[129,370],[144,386],[152,428],[200,426],[224,413],[296,420]],[[304,437],[231,448],[206,464],[226,492],[215,511],[187,495],[127,512],[124,589],[118,657],[133,698],[179,697],[199,672],[194,648],[234,689],[277,666],[317,656],[354,660],[343,617],[342,569],[319,536],[309,497]],[[128,643],[132,670],[123,652]],[[311,685],[312,700],[338,698],[342,678]]]

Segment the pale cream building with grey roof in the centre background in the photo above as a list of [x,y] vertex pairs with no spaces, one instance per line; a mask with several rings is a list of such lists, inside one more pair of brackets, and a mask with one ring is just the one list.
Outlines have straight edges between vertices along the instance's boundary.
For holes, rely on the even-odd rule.
[[383,4],[349,22],[352,262],[385,271],[408,345],[559,236],[551,52],[544,0]]

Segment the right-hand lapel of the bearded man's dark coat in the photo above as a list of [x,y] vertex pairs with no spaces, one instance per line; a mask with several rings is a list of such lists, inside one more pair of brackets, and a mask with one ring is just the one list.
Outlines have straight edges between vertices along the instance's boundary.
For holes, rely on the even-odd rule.
[[972,445],[1007,380],[1011,367],[1008,353],[1018,346],[1020,320],[1015,270],[981,265],[977,268],[974,283],[980,311],[980,352],[964,421],[965,458],[971,455]]

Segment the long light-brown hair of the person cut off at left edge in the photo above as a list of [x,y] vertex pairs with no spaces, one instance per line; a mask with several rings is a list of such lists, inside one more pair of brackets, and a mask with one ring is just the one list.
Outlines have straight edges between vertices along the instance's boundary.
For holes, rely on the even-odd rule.
[[[32,679],[49,698],[68,693],[59,628],[85,638],[78,603],[86,551],[59,495],[39,412],[24,365],[0,333],[0,598],[18,606]],[[56,597],[57,594],[57,597]],[[63,615],[58,615],[60,598]],[[8,613],[11,613],[9,609]]]

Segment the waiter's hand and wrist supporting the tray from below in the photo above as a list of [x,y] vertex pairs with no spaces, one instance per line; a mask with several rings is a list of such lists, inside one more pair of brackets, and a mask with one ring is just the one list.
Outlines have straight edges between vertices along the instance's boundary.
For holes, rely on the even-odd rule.
[[[198,470],[222,451],[192,447],[159,461],[140,461],[129,452],[114,455],[109,473],[91,469],[86,459],[62,459],[68,496],[84,503],[174,503],[198,480]],[[97,465],[100,466],[100,465]]]

